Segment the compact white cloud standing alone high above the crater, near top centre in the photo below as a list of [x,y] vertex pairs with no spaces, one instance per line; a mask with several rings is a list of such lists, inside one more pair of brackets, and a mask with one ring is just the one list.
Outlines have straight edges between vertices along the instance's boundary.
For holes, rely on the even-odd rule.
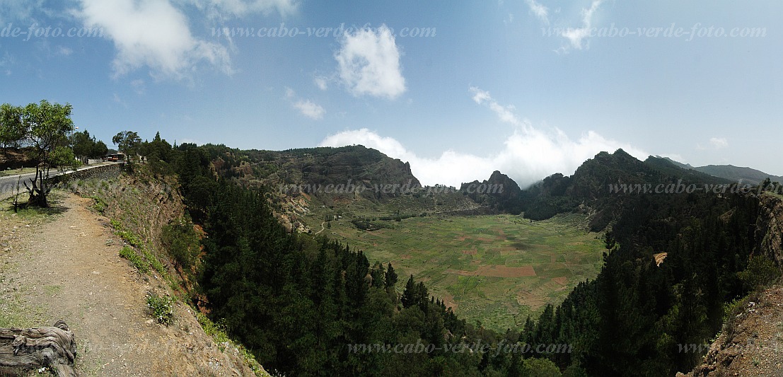
[[386,25],[346,34],[334,55],[342,82],[355,96],[395,99],[405,92],[399,49]]

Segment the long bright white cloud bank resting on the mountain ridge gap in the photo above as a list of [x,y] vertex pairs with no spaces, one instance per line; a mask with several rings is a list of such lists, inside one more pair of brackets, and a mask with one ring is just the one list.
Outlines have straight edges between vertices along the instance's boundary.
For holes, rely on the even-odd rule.
[[473,100],[489,107],[500,121],[514,125],[514,132],[507,136],[495,154],[477,156],[454,150],[444,151],[438,158],[420,158],[407,150],[402,143],[378,135],[369,129],[347,130],[327,136],[320,145],[341,147],[361,144],[375,148],[391,158],[410,162],[410,169],[422,184],[435,183],[459,187],[460,183],[474,179],[489,178],[495,170],[511,176],[521,187],[543,179],[556,172],[571,175],[579,165],[601,151],[614,152],[622,148],[636,158],[644,159],[648,153],[630,146],[609,140],[597,132],[588,131],[572,140],[559,129],[543,131],[533,127],[529,121],[521,121],[514,114],[514,107],[503,106],[482,89],[471,87]]

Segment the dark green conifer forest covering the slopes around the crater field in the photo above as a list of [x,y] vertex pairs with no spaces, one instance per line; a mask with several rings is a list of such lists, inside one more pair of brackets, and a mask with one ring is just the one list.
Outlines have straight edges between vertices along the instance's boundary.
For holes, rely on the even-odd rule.
[[[548,362],[554,362],[562,372],[568,374],[672,375],[677,371],[690,370],[702,357],[702,353],[681,352],[681,346],[704,343],[712,339],[722,327],[727,303],[766,284],[767,281],[758,281],[752,277],[758,276],[757,269],[766,269],[769,263],[774,263],[758,247],[760,237],[767,237],[767,235],[758,234],[755,228],[751,229],[747,225],[756,223],[760,213],[761,205],[756,195],[742,192],[713,194],[706,190],[691,193],[677,193],[672,190],[660,194],[612,193],[609,185],[613,183],[646,184],[651,187],[661,184],[665,187],[692,184],[697,187],[705,184],[722,184],[727,181],[680,169],[669,161],[661,159],[638,161],[622,150],[614,154],[601,153],[596,158],[586,161],[573,176],[555,175],[529,190],[519,192],[521,208],[525,211],[525,216],[546,219],[561,212],[581,212],[591,216],[590,227],[607,228],[608,233],[604,237],[607,252],[603,256],[601,272],[594,280],[579,283],[565,297],[563,303],[544,306],[537,318],[528,318],[520,328],[499,335],[487,329],[474,328],[464,321],[447,321],[446,318],[456,320],[456,317],[453,317],[453,313],[446,309],[446,305],[439,298],[424,299],[429,292],[426,285],[416,283],[412,277],[395,305],[395,295],[389,289],[391,286],[388,286],[384,273],[384,268],[388,269],[388,266],[370,263],[364,253],[354,254],[351,249],[343,246],[332,249],[339,244],[326,241],[320,236],[312,239],[305,234],[297,235],[287,233],[284,229],[276,230],[279,225],[276,221],[272,221],[274,218],[272,211],[264,209],[266,200],[262,200],[262,196],[241,194],[245,189],[229,188],[230,186],[226,186],[225,183],[215,183],[212,178],[215,175],[212,173],[210,159],[207,156],[208,148],[204,150],[180,146],[179,150],[186,159],[200,161],[202,166],[199,170],[200,174],[192,173],[196,170],[193,164],[188,168],[189,175],[180,174],[181,179],[184,179],[183,192],[199,193],[197,198],[192,199],[193,204],[197,203],[196,200],[198,203],[206,204],[190,205],[190,210],[194,213],[193,218],[204,216],[207,220],[204,227],[207,234],[220,234],[226,231],[233,234],[230,239],[211,235],[211,241],[206,245],[206,260],[211,266],[205,270],[203,281],[204,287],[207,288],[207,297],[210,298],[211,306],[215,309],[213,313],[224,320],[229,318],[228,321],[236,326],[243,323],[240,327],[229,326],[229,328],[233,328],[237,335],[244,337],[246,342],[264,344],[264,351],[259,352],[258,356],[267,357],[268,363],[280,370],[295,370],[306,374],[309,372],[305,371],[312,372],[312,369],[301,369],[303,366],[298,363],[303,360],[309,362],[315,360],[319,368],[337,368],[336,370],[341,372],[352,371],[359,374],[374,374],[375,372],[370,373],[370,370],[378,370],[381,371],[378,374],[384,374],[382,371],[389,370],[385,367],[399,362],[400,359],[384,353],[374,353],[369,359],[356,354],[346,354],[346,349],[341,348],[343,344],[350,344],[359,339],[391,343],[422,339],[424,343],[449,344],[456,342],[456,339],[480,338],[493,346],[502,344],[503,339],[506,339],[505,341],[512,343],[534,345],[568,343],[573,348],[570,353],[554,354],[520,355],[495,352],[483,353],[480,358],[478,355],[467,358],[465,355],[460,355],[456,358],[447,357],[446,360],[449,361],[446,364],[438,364],[441,366],[437,368],[432,362],[443,360],[438,357],[446,355],[438,352],[427,353],[417,355],[423,359],[421,363],[416,364],[426,365],[426,367],[417,369],[415,374],[507,373],[521,371],[520,368],[526,368],[525,365],[528,365],[525,364],[528,360],[534,363],[537,362],[535,360],[543,357]],[[196,156],[200,157],[195,158]],[[218,176],[221,175],[218,173]],[[199,184],[194,184],[197,182]],[[219,194],[204,195],[210,191]],[[462,194],[457,192],[456,195]],[[318,198],[321,199],[320,196]],[[270,199],[272,203],[280,201],[280,198]],[[308,199],[312,197],[305,198],[305,204],[308,203]],[[337,198],[335,202],[339,204],[344,199]],[[389,198],[391,199],[399,200],[399,198]],[[482,199],[478,198],[478,200]],[[509,198],[506,198],[506,202],[511,203]],[[352,202],[347,201],[345,205],[352,205]],[[323,205],[323,208],[327,207],[326,204]],[[250,211],[247,208],[257,209]],[[303,205],[302,209],[305,208],[307,206]],[[338,208],[337,205],[334,205],[334,208]],[[229,213],[239,213],[238,217],[243,220],[237,223],[236,220],[232,220]],[[264,215],[265,213],[268,215]],[[215,220],[211,222],[210,218]],[[404,223],[412,219],[400,219],[400,222]],[[258,231],[269,229],[267,227],[272,228],[269,231]],[[244,230],[237,231],[237,229]],[[379,234],[384,232],[388,231],[383,230]],[[252,241],[254,237],[258,237],[258,234],[265,234],[265,236],[261,240]],[[274,234],[277,236],[270,237]],[[235,241],[236,237],[239,237],[239,241]],[[246,237],[249,239],[244,241]],[[273,241],[276,238],[279,241]],[[211,245],[211,242],[215,244]],[[276,243],[277,246],[272,246],[270,242]],[[373,244],[377,243],[379,242],[373,242]],[[225,244],[225,248],[220,247],[220,244]],[[325,255],[320,252],[308,253],[306,250],[309,248],[305,245],[314,245],[319,250],[326,248],[334,251],[326,252]],[[375,246],[367,246],[370,247]],[[290,252],[282,250],[290,250]],[[297,250],[300,252],[296,252]],[[348,254],[341,256],[341,252],[337,250]],[[258,254],[259,252],[262,254]],[[660,252],[666,252],[667,258],[658,265],[653,256]],[[334,264],[336,263],[334,259],[330,262],[328,258],[330,255],[334,255],[336,260],[342,260],[343,264]],[[355,255],[358,255],[359,259],[355,259]],[[305,262],[312,260],[319,262],[314,265],[309,264],[312,262]],[[282,264],[280,261],[283,261]],[[323,276],[323,272],[319,272],[323,270],[312,270],[313,266],[319,264],[332,266],[327,270],[335,273],[342,271],[338,274],[340,283],[327,288],[327,291],[314,288],[320,283],[311,286],[313,288],[308,288],[308,284],[311,284],[308,281],[313,281],[312,277]],[[370,267],[371,265],[373,267]],[[366,274],[363,274],[363,271],[366,271]],[[779,272],[774,276],[778,275]],[[384,279],[381,279],[381,276]],[[368,280],[364,280],[365,278]],[[349,282],[352,279],[355,279],[358,284],[354,288],[350,288]],[[363,283],[359,284],[359,280]],[[383,284],[379,283],[380,286],[377,288],[384,291],[384,295],[381,295],[380,291],[373,290],[375,282],[381,280]],[[226,291],[225,288],[221,288],[226,286],[226,281],[230,282],[230,286],[239,288]],[[359,288],[359,285],[367,289]],[[330,291],[335,288],[338,290]],[[342,289],[345,289],[345,296],[337,293]],[[301,292],[301,296],[297,292]],[[425,294],[422,295],[421,292]],[[345,298],[324,302],[323,297],[327,296]],[[252,297],[259,297],[260,301],[254,301]],[[266,299],[262,299],[264,297]],[[294,299],[298,297],[301,299]],[[370,304],[366,301],[369,297],[375,299],[388,297],[391,300],[388,303],[391,305]],[[423,305],[425,301],[429,304]],[[263,309],[267,307],[265,303],[274,303],[276,310],[257,311],[251,319],[247,310],[251,307]],[[402,305],[399,306],[400,304]],[[345,305],[345,309],[339,309],[341,305]],[[395,306],[397,309],[394,309]],[[294,307],[297,309],[285,309]],[[369,310],[368,307],[386,307],[391,311],[366,312]],[[327,308],[334,308],[337,311],[330,312]],[[435,312],[431,312],[432,309],[435,309]],[[318,318],[307,317],[306,314],[310,310],[327,315]],[[286,315],[278,317],[280,312]],[[329,313],[336,314],[329,315]],[[440,330],[437,330],[438,326],[432,328],[428,325],[430,320],[427,320],[421,323],[423,327],[411,328],[411,323],[402,318],[412,319],[413,317],[408,316],[414,313],[421,313],[416,315],[434,319],[435,323],[442,323],[443,327]],[[305,317],[301,317],[303,315]],[[438,320],[438,317],[441,319]],[[334,324],[331,325],[332,327],[329,325],[330,321],[349,324],[353,321],[361,323],[370,318],[376,324],[370,332],[350,332],[348,328],[337,330],[341,326],[335,328]],[[394,324],[391,328],[383,324],[387,320]],[[263,323],[265,326],[258,330],[251,330],[251,334],[254,335],[249,336],[247,335],[248,323],[244,323],[245,321]],[[311,330],[294,332],[293,329],[285,330],[286,327],[283,326],[283,331],[293,337],[283,341],[282,339],[286,337],[280,335],[279,326],[285,323],[312,323],[314,327]],[[402,324],[404,324],[402,328],[397,327]],[[273,335],[269,332],[270,327],[277,328],[278,332]],[[320,330],[325,328],[333,328],[336,332]],[[381,330],[384,328],[388,332]],[[414,332],[411,333],[411,330]],[[334,337],[335,335],[337,337]],[[299,339],[299,336],[304,336],[303,339],[313,339],[312,342],[318,344],[331,344],[336,347],[334,350],[342,349],[342,351],[330,353],[334,352],[330,351],[332,346],[325,346],[319,349],[324,352],[323,358],[306,356],[303,359],[299,355],[309,354],[306,350],[312,353],[310,347],[316,344],[304,343],[308,346],[302,348],[300,353],[295,353],[297,357],[294,357],[290,349],[292,344],[299,343],[296,341],[290,343],[290,339]],[[280,343],[276,343],[275,339],[280,339]],[[274,344],[285,346],[276,349],[273,348]],[[327,363],[327,360],[335,358],[340,360],[341,367],[334,367],[334,364]],[[346,368],[347,365],[354,365],[356,368],[361,365],[362,369],[340,369]],[[372,365],[373,368],[364,369],[367,365]],[[378,369],[374,369],[375,367]]]

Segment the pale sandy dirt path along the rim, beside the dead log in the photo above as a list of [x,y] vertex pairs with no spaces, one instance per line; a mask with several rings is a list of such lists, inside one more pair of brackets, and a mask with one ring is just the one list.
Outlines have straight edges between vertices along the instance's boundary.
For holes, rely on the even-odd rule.
[[0,244],[7,245],[0,248],[0,298],[13,302],[16,294],[24,314],[34,317],[31,327],[66,321],[77,338],[81,375],[251,374],[236,352],[218,350],[181,303],[171,327],[154,322],[146,293],[162,292],[163,280],[141,276],[118,256],[122,242],[108,219],[88,209],[92,199],[61,196],[62,213],[53,221],[0,219]]

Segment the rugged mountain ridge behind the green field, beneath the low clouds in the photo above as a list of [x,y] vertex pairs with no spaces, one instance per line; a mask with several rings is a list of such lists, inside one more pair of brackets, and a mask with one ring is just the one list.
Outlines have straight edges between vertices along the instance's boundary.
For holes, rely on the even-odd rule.
[[[396,198],[391,207],[399,214],[484,208],[489,212],[524,213],[525,218],[540,220],[557,213],[584,212],[594,215],[590,216],[590,227],[602,230],[616,219],[620,208],[637,200],[633,197],[677,194],[681,192],[673,190],[684,186],[692,187],[690,192],[703,193],[710,185],[757,184],[767,177],[783,181],[783,177],[732,165],[694,168],[658,156],[640,161],[619,149],[596,154],[584,161],[572,176],[555,173],[524,190],[513,179],[496,171],[482,182],[463,183],[460,190],[435,190],[440,193],[436,199],[422,190],[377,190],[389,184],[402,185],[403,189],[420,189],[421,185],[407,162],[359,145],[283,151],[235,150],[225,146],[205,149],[219,176],[238,179],[244,185],[283,188],[283,191],[276,190],[280,196],[273,202],[280,212],[292,216],[301,212],[297,210],[300,205],[292,204],[289,199],[299,194],[305,194],[308,200],[315,196],[319,205],[327,206],[335,201],[345,204],[370,201],[385,208],[389,200]],[[366,190],[340,190],[354,185]],[[330,190],[332,187],[336,190]],[[498,187],[503,190],[471,190]]]

